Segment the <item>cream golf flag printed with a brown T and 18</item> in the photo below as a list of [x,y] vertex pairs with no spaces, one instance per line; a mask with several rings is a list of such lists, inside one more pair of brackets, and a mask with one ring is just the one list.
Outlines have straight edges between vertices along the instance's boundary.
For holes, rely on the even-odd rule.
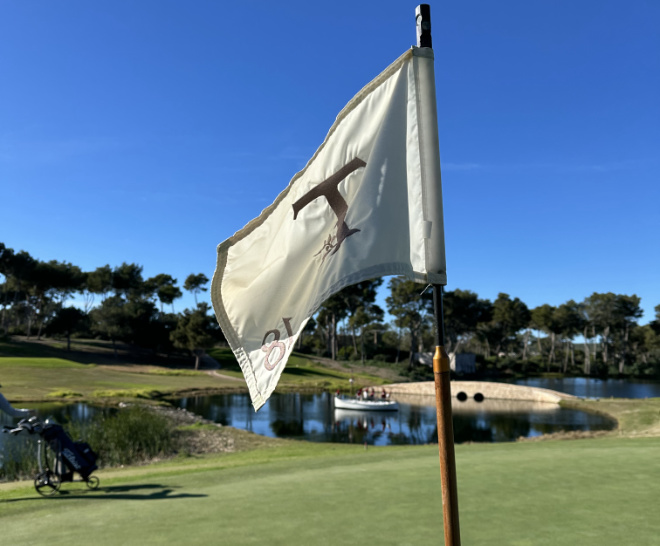
[[420,101],[423,63],[432,76],[432,51],[412,48],[362,89],[275,202],[218,246],[211,298],[255,409],[332,294],[384,275],[446,284],[442,197],[428,186],[439,158],[420,146],[436,116],[434,97]]

